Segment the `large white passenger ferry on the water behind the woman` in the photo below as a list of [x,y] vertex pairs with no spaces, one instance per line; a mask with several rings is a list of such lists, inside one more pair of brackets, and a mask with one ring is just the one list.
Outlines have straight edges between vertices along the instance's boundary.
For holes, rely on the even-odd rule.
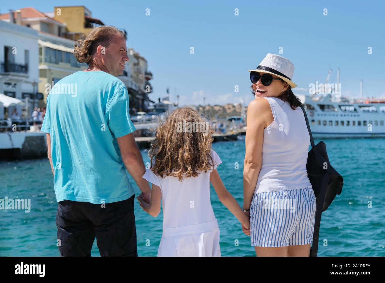
[[297,95],[314,138],[385,137],[385,99]]

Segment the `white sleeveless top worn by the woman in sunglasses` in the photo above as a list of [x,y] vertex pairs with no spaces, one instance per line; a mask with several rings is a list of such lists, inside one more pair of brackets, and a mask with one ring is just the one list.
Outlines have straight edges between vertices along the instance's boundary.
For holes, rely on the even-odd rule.
[[306,172],[310,136],[301,107],[276,97],[268,100],[274,121],[264,129],[262,167],[254,193],[311,187]]

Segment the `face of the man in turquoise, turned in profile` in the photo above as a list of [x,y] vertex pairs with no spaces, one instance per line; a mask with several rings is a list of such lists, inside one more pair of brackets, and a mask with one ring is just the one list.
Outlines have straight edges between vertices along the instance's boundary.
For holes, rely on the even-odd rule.
[[108,47],[105,48],[103,64],[111,75],[122,75],[124,64],[128,61],[126,40],[124,37],[114,38]]

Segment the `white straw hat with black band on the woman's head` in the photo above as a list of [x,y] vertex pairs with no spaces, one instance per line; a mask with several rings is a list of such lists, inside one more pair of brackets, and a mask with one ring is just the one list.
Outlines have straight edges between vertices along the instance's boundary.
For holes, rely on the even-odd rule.
[[291,81],[294,73],[293,63],[280,55],[268,53],[255,70],[248,71],[273,74],[287,82],[292,89],[297,86]]

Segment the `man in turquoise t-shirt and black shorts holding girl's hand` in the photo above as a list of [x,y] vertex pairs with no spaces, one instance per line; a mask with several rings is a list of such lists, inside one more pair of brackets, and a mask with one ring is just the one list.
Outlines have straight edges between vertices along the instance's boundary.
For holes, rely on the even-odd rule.
[[55,84],[47,97],[42,131],[59,202],[57,245],[61,256],[90,256],[96,236],[101,256],[137,256],[131,174],[151,198],[143,159],[132,132],[129,96],[117,79],[129,60],[126,36],[97,27],[75,44],[89,67]]

